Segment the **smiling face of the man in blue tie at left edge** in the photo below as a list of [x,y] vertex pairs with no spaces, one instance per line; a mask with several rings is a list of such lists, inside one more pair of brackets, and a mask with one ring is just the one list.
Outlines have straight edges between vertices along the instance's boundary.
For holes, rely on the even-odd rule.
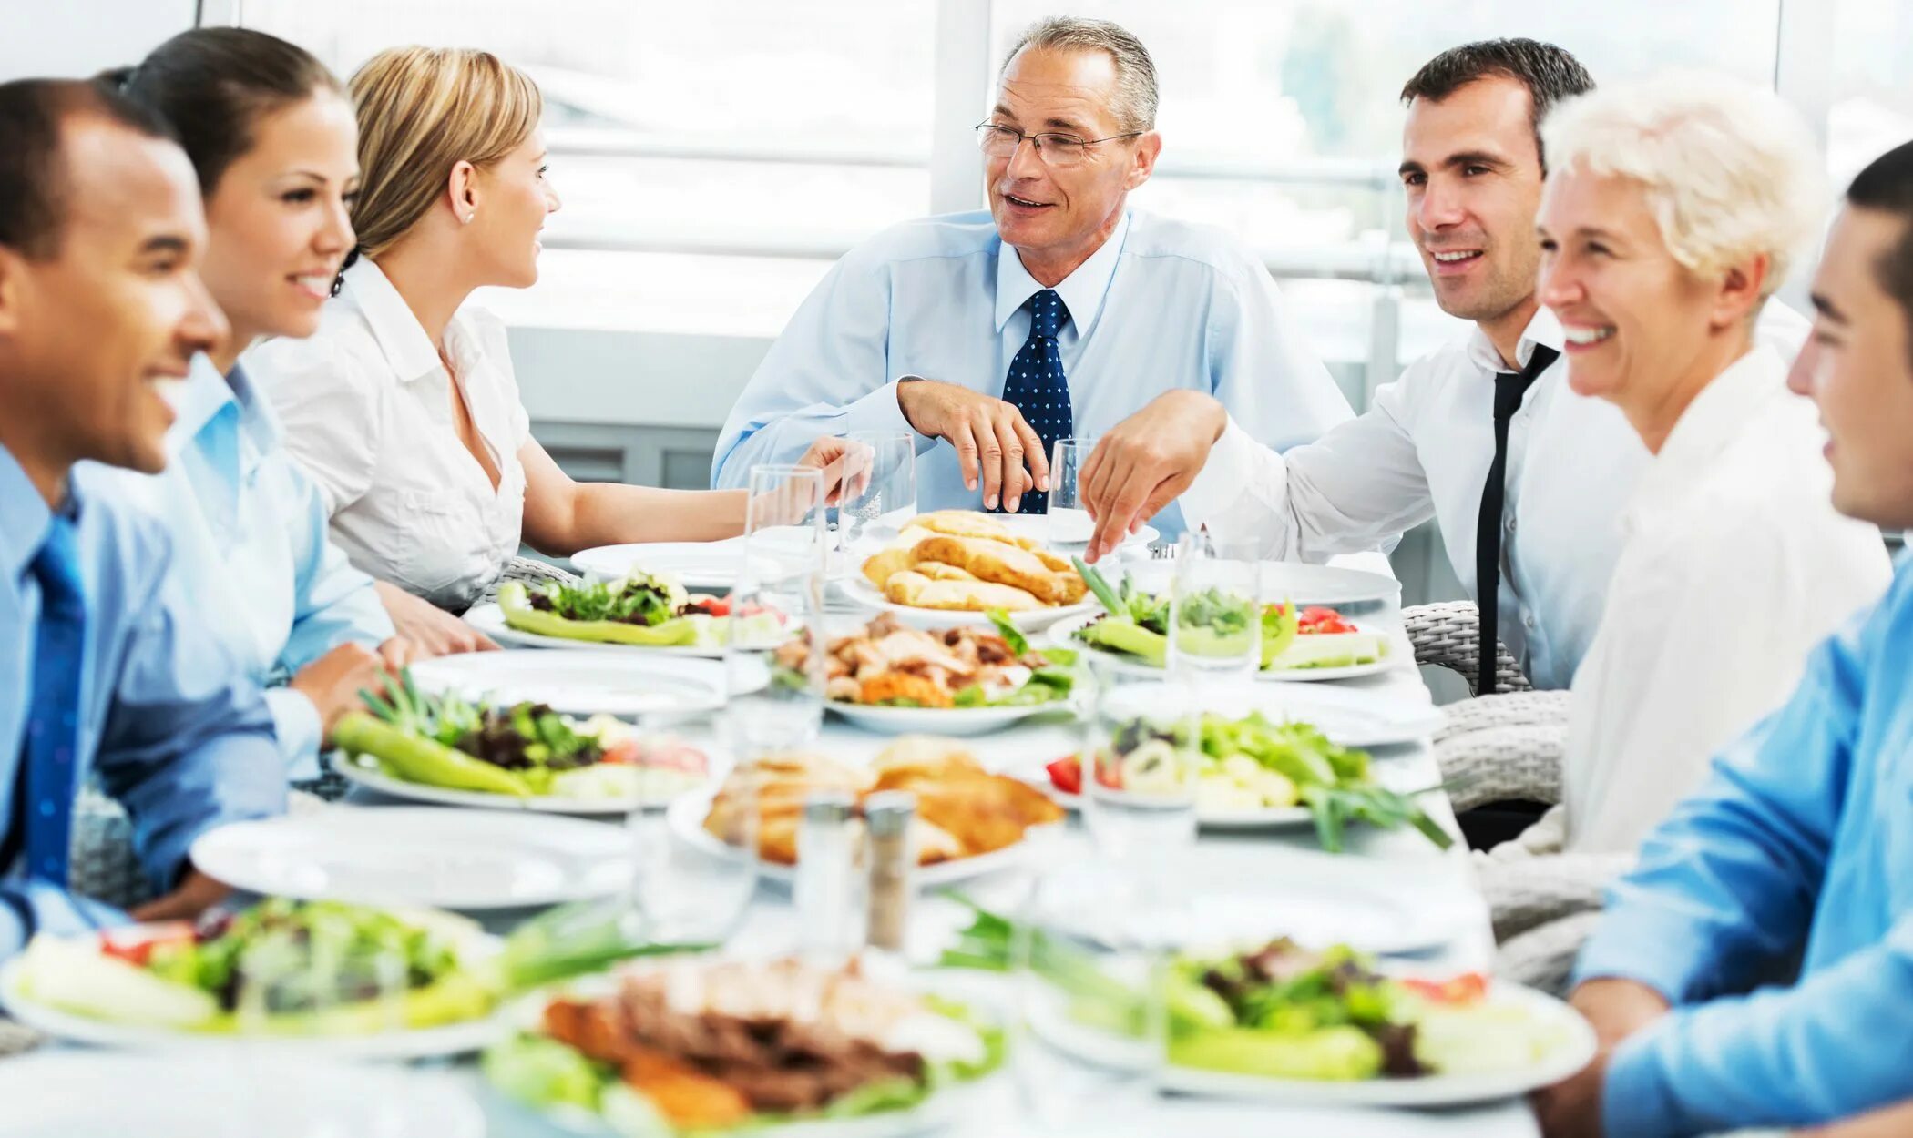
[[199,184],[180,147],[98,115],[67,117],[61,161],[59,247],[44,258],[0,247],[6,415],[48,469],[98,459],[157,472],[172,425],[163,392],[226,337],[197,272]]

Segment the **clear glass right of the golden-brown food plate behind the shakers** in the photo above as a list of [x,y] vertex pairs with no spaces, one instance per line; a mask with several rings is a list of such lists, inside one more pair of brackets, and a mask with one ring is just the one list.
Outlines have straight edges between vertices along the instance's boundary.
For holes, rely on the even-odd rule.
[[1194,692],[1161,673],[1090,656],[1083,725],[1083,822],[1098,853],[1146,863],[1196,842]]

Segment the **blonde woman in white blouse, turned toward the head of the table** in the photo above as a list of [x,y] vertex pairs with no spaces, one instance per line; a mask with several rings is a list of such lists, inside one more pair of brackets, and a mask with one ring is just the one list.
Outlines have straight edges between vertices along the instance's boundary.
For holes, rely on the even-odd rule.
[[[440,610],[467,608],[520,539],[568,555],[740,534],[742,492],[559,471],[530,434],[503,325],[467,304],[484,285],[538,281],[538,233],[559,197],[532,80],[486,52],[396,48],[352,77],[352,96],[360,258],[316,337],[262,344],[247,363],[323,488],[335,539],[386,583],[400,629],[469,641]],[[803,461],[828,469],[840,453],[842,440],[821,440]]]

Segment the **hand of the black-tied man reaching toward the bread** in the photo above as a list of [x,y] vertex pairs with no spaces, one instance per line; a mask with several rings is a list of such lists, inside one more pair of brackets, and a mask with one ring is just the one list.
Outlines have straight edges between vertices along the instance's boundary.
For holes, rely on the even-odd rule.
[[1115,551],[1176,499],[1215,449],[1228,411],[1213,396],[1163,392],[1096,442],[1083,474],[1083,509],[1096,518],[1088,560]]

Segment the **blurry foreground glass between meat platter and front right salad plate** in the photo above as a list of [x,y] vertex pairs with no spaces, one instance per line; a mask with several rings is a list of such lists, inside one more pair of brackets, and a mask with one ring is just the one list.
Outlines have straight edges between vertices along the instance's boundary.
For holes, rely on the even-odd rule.
[[1134,1128],[1155,1100],[1167,1048],[1167,895],[1106,861],[1044,874],[1010,945],[1016,1083],[1048,1134]]

